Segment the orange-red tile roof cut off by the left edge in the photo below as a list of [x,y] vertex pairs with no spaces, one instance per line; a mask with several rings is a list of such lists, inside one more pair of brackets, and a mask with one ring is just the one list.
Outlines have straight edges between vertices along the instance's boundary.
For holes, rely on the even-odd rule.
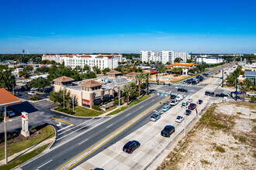
[[12,93],[5,90],[4,88],[0,88],[0,107],[18,104],[21,102],[22,101],[13,96]]

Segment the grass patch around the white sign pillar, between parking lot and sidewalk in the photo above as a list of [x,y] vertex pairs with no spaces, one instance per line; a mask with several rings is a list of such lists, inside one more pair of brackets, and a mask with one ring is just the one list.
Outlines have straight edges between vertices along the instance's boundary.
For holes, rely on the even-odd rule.
[[[39,144],[41,141],[45,141],[48,138],[52,138],[55,135],[55,130],[50,125],[47,125],[46,127],[40,128],[40,126],[37,126],[35,128],[31,128],[31,131],[38,131],[39,134],[37,134],[33,138],[29,138],[26,141],[21,141],[19,143],[14,144],[8,144],[8,155],[14,155],[15,153],[18,153],[19,151],[23,151],[26,148],[32,147],[33,145]],[[0,148],[0,160],[5,158],[5,147],[2,146]]]

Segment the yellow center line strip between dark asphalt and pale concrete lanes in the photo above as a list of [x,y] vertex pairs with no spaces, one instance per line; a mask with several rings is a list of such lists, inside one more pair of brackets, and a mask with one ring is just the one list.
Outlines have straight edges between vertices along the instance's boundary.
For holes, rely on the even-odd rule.
[[[157,102],[157,104],[159,104],[160,102],[162,102],[163,100],[166,100],[168,97],[165,97],[164,99],[162,99],[161,101]],[[155,105],[157,104],[154,104],[153,106],[151,107],[154,107]],[[141,117],[144,117],[144,115],[148,114],[151,110],[150,108],[147,108],[147,110],[144,110],[143,112],[141,112],[140,114],[138,114],[136,117],[139,117],[141,114],[143,114]],[[133,121],[133,119],[135,119],[136,117],[133,117],[130,121],[126,122],[126,124],[130,123],[131,121]],[[140,118],[141,118],[140,117]],[[137,119],[137,121],[140,120]],[[134,121],[132,124],[134,124],[135,122],[137,121]],[[120,128],[123,128],[123,126],[125,126],[126,124],[123,124],[121,127],[117,128],[115,131],[112,131],[112,133],[108,134],[105,138],[102,138],[100,141],[97,141],[94,145],[92,145],[91,147],[85,149],[85,151],[88,151],[90,148],[94,147],[95,145],[99,144],[99,142],[103,141],[104,139],[108,138],[111,134],[114,134],[116,131],[118,131]],[[129,128],[132,124],[130,124],[129,126],[127,126],[126,128]],[[122,131],[126,130],[126,128],[124,128]],[[115,138],[118,134],[122,133],[122,131],[119,131],[119,133],[115,134],[114,136],[112,136],[112,138]],[[83,158],[81,158],[80,160],[78,160],[78,162],[81,162],[81,160],[83,160],[84,158],[88,157],[88,155],[91,155],[94,151],[98,150],[99,148],[101,148],[103,145],[105,145],[107,142],[109,142],[112,138],[109,138],[109,140],[105,141],[102,145],[100,145],[98,148],[95,148],[93,151],[91,151],[90,153],[88,153],[87,155],[85,155]],[[76,155],[74,158],[77,158],[79,155],[85,153],[85,151],[82,151],[80,154]],[[71,162],[72,160],[74,160],[74,158],[71,158],[71,160],[69,160],[68,162],[64,163],[64,165],[66,165],[67,163]],[[69,168],[67,169],[70,169],[72,168],[74,165],[78,164],[78,162],[75,162],[73,165],[71,165]],[[63,167],[64,165],[61,165],[59,168]],[[57,168],[57,169],[59,169]],[[56,170],[57,170],[56,169]]]

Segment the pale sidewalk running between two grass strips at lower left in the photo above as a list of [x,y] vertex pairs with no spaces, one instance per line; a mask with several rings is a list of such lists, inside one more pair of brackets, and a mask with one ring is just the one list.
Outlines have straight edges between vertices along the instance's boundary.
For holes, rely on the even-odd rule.
[[[41,142],[40,144],[38,144],[38,145],[34,145],[34,146],[30,147],[30,148],[26,148],[26,149],[23,150],[23,151],[19,151],[18,153],[14,154],[14,155],[12,155],[12,156],[9,156],[9,157],[8,157],[8,162],[11,162],[13,159],[18,158],[18,157],[20,157],[20,156],[22,156],[22,155],[27,154],[27,153],[29,153],[30,151],[33,151],[33,150],[35,150],[35,149],[37,149],[37,148],[40,148],[40,147],[42,147],[43,145],[50,144],[50,143],[52,143],[53,141],[55,141],[55,137],[54,137],[54,138],[47,139],[47,140],[45,140],[45,141],[42,141],[42,142]],[[49,148],[49,147],[48,147],[48,148]],[[1,166],[1,165],[5,165],[5,159],[2,159],[2,160],[0,161],[0,166]]]

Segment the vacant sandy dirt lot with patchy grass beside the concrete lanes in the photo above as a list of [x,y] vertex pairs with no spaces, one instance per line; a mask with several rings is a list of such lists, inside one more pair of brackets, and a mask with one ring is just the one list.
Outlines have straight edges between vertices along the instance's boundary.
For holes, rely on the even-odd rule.
[[157,169],[256,169],[256,104],[213,104]]

